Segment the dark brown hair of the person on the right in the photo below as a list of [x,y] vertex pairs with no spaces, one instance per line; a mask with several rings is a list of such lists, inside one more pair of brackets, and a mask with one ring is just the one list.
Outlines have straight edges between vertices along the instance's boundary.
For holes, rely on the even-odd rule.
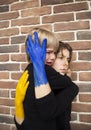
[[73,51],[72,47],[68,43],[59,41],[59,48],[57,53],[59,53],[60,51],[63,52],[64,49],[67,49],[69,51],[69,55],[70,55],[69,63],[70,63],[72,59],[72,51]]

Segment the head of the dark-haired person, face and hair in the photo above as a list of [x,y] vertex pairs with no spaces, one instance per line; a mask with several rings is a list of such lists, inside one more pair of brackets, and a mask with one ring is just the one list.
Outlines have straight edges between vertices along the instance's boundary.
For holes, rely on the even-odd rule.
[[67,74],[72,58],[72,48],[68,43],[59,42],[56,60],[53,68],[60,74]]

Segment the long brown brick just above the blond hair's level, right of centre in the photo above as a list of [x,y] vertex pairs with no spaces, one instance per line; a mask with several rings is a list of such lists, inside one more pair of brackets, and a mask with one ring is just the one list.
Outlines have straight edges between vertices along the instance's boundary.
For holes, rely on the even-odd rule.
[[73,21],[73,13],[67,14],[56,14],[51,16],[44,16],[42,18],[42,23],[55,23],[55,22],[63,22],[63,21]]

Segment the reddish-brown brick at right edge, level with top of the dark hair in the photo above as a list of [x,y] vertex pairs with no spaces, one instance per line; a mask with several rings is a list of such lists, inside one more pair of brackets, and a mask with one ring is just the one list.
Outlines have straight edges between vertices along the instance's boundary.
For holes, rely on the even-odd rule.
[[70,42],[70,45],[73,50],[91,50],[91,40]]

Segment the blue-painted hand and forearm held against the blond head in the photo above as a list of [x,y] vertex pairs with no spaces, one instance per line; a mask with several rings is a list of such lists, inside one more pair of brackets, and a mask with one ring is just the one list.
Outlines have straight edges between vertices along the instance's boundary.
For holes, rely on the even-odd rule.
[[42,45],[40,45],[38,34],[37,32],[34,32],[34,40],[32,40],[31,36],[29,35],[26,44],[26,52],[30,56],[34,67],[35,87],[47,84],[48,80],[44,65],[46,58],[47,39],[45,38],[42,42]]

